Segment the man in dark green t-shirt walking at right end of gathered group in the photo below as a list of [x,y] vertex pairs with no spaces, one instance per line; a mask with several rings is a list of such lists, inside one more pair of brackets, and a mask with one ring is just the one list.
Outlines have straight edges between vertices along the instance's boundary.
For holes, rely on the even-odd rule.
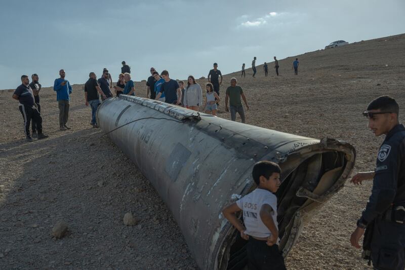
[[[231,79],[231,86],[226,89],[226,96],[225,96],[225,110],[231,111],[231,120],[236,120],[236,112],[239,113],[240,119],[242,123],[246,123],[245,119],[245,110],[240,97],[244,99],[245,105],[249,110],[248,102],[246,101],[246,97],[242,88],[236,85],[237,80],[236,78]],[[229,108],[228,108],[228,99],[229,99]]]

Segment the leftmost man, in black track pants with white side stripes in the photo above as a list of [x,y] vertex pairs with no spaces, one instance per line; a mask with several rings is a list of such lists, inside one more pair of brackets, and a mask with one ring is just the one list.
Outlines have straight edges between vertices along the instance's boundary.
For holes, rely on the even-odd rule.
[[29,79],[27,75],[21,76],[22,84],[14,91],[13,98],[19,101],[19,109],[24,119],[24,132],[27,136],[27,141],[32,141],[29,133],[29,124],[32,121],[36,123],[36,129],[38,130],[38,139],[48,138],[48,135],[42,133],[42,118],[36,108],[34,95],[29,87]]

